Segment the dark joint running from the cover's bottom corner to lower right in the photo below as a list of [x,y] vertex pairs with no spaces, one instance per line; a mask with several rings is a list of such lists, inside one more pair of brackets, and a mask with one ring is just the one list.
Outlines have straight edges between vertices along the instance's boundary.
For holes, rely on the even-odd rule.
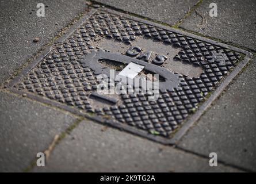
[[[184,151],[186,153],[199,156],[200,158],[209,159],[209,157],[207,155],[203,155],[203,154],[199,154],[199,153],[194,152],[194,151],[186,150],[185,148],[179,147],[178,145],[175,146],[175,148],[179,151]],[[217,162],[220,163],[220,164],[223,164],[224,166],[236,168],[238,170],[241,170],[241,171],[244,171],[244,172],[247,172],[247,173],[254,173],[255,172],[254,170],[250,170],[248,168],[244,168],[244,167],[236,166],[235,164],[230,164],[230,163],[224,162],[223,160],[220,160],[219,158],[218,158]]]

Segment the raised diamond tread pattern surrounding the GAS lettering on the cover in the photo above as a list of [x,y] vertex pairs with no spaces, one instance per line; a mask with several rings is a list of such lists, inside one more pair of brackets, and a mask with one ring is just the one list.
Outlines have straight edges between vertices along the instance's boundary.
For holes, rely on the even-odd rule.
[[[196,78],[181,75],[179,86],[161,91],[156,101],[148,101],[146,95],[123,94],[120,95],[120,105],[93,108],[88,99],[97,88],[97,81],[94,71],[82,60],[83,56],[98,49],[94,43],[99,39],[115,39],[131,44],[138,36],[181,48],[174,58],[175,62],[201,67],[202,74]],[[54,45],[51,52],[15,87],[74,106],[83,112],[108,116],[120,124],[169,137],[238,63],[240,56],[240,53],[205,41],[98,10],[63,43]]]

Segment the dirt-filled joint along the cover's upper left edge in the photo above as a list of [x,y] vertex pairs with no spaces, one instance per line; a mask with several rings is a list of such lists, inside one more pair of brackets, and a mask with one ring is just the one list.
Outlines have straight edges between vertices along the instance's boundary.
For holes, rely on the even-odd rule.
[[7,83],[12,81],[13,78],[15,78],[17,75],[19,75],[20,72],[22,70],[24,70],[24,68],[26,68],[30,63],[33,62],[33,60],[35,60],[37,57],[42,55],[47,48],[54,46],[56,44],[55,42],[58,39],[60,39],[60,37],[66,35],[68,33],[68,30],[70,30],[70,28],[72,26],[74,26],[74,24],[79,22],[79,20],[81,20],[83,17],[85,17],[85,15],[87,13],[89,13],[89,11],[90,11],[90,6],[88,6],[85,10],[83,10],[81,13],[79,13],[77,16],[75,16],[70,22],[68,22],[66,24],[66,26],[61,28],[60,31],[57,32],[56,35],[51,40],[48,41],[48,43],[41,46],[40,49],[36,53],[33,53],[33,55],[29,59],[27,59],[16,71],[14,71],[12,74],[10,74],[9,78],[7,78],[4,82],[0,83],[0,89],[5,87],[5,85]]

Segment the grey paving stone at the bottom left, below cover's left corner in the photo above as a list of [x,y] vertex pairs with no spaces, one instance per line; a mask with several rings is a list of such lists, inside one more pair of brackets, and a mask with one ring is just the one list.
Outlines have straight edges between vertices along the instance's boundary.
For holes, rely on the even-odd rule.
[[0,172],[22,171],[75,117],[37,102],[0,92]]

